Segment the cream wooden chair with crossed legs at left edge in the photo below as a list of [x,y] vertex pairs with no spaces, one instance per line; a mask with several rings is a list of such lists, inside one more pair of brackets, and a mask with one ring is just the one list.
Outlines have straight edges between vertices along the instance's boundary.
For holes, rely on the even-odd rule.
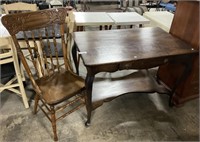
[[29,108],[17,52],[13,46],[12,40],[9,37],[0,38],[1,81],[3,81],[3,78],[10,77],[8,81],[0,84],[0,93],[4,90],[9,90],[18,94],[22,97],[25,108]]

